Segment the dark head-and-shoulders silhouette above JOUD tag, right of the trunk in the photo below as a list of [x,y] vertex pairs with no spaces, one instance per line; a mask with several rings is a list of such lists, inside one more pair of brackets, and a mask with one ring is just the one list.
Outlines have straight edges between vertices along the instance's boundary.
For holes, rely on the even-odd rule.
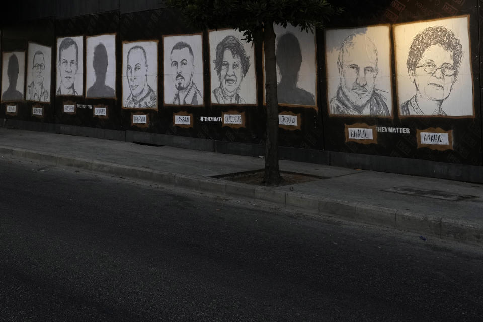
[[315,105],[312,93],[297,87],[298,73],[302,64],[300,44],[292,33],[286,33],[278,39],[276,61],[280,72],[280,82],[277,84],[279,103]]

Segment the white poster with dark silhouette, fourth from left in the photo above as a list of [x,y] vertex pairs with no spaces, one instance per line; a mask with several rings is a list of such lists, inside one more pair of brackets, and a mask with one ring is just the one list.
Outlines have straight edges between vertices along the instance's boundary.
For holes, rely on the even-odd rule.
[[86,97],[116,98],[116,35],[86,37]]

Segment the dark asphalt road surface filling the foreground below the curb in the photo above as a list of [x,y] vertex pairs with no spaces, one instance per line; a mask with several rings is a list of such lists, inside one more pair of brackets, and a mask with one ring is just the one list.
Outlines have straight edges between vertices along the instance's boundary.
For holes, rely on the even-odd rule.
[[482,276],[481,247],[0,159],[0,321],[481,321]]

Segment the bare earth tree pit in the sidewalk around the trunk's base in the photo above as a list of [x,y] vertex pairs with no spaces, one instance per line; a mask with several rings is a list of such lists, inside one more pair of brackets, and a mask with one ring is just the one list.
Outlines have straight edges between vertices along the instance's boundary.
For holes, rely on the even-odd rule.
[[[217,176],[213,176],[212,178],[225,179],[225,180],[230,180],[235,182],[246,183],[250,185],[261,186],[264,172],[265,172],[264,169],[252,170],[252,171],[230,173],[225,175],[217,175]],[[280,171],[280,175],[284,179],[284,182],[281,184],[281,186],[293,185],[297,183],[303,183],[303,182],[309,182],[309,181],[328,178],[328,177],[307,175],[303,173],[290,172],[290,171]]]

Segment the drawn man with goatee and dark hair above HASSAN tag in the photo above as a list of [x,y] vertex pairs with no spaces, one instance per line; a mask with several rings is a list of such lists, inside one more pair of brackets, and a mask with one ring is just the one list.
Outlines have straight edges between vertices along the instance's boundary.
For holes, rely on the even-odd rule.
[[176,93],[173,104],[203,104],[200,90],[193,82],[195,71],[194,55],[191,46],[186,42],[178,42],[171,49],[171,74]]

